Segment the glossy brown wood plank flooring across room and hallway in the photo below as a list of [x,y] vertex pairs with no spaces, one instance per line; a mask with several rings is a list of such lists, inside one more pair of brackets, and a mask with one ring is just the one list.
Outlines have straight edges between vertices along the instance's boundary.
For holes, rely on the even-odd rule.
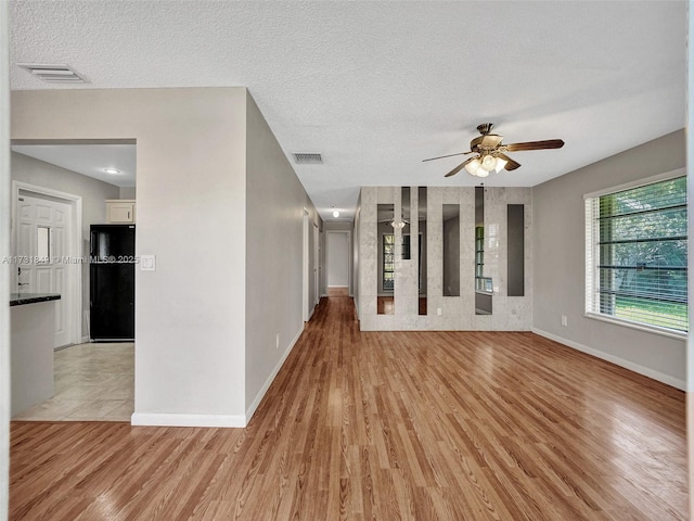
[[684,520],[684,395],[324,298],[247,429],[12,422],[12,520]]

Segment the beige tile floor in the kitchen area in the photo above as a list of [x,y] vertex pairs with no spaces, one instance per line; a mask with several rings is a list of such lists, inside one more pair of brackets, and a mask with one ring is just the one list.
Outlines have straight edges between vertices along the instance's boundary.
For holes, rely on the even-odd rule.
[[77,344],[55,352],[55,395],[13,420],[130,421],[134,344]]

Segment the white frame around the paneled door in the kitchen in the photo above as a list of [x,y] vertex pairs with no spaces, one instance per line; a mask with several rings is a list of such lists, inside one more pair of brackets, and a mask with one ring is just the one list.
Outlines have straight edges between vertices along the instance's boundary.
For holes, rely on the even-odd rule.
[[[17,200],[20,198],[20,191],[30,192],[31,194],[41,198],[49,196],[57,199],[60,202],[69,204],[72,208],[72,229],[69,230],[69,241],[67,245],[67,255],[70,259],[75,259],[74,263],[67,265],[66,272],[68,274],[69,291],[73,294],[73,305],[69,313],[73,317],[73,338],[70,342],[75,344],[83,343],[86,340],[82,338],[82,271],[79,269],[85,265],[83,253],[81,251],[81,236],[82,236],[82,198],[81,195],[75,195],[67,192],[61,192],[51,188],[39,187],[37,185],[30,185],[23,181],[12,181],[12,202],[11,202],[11,252],[16,253],[16,217],[17,217]],[[88,260],[88,259],[87,259]],[[12,282],[16,278],[16,270],[12,271]],[[87,339],[88,341],[89,339]]]

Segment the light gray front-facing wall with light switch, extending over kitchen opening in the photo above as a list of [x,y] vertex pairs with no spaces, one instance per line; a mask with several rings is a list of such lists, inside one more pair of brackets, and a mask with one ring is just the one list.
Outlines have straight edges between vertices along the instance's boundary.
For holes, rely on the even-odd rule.
[[14,139],[137,142],[136,253],[156,271],[136,274],[132,421],[244,425],[246,89],[15,91],[11,105]]

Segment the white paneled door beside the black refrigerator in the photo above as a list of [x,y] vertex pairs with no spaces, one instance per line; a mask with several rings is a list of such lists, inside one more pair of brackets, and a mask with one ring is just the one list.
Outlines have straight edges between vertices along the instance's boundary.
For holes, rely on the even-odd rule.
[[17,293],[60,293],[55,301],[54,347],[73,343],[68,249],[72,206],[20,192],[16,216]]

